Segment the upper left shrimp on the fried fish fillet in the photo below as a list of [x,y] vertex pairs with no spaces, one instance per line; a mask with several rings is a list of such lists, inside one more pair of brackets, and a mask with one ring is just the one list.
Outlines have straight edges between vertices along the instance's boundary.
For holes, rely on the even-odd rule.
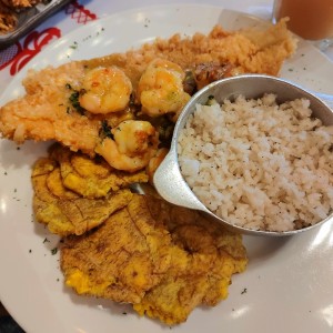
[[85,74],[79,102],[91,113],[105,114],[125,109],[131,93],[131,80],[121,69],[100,67]]

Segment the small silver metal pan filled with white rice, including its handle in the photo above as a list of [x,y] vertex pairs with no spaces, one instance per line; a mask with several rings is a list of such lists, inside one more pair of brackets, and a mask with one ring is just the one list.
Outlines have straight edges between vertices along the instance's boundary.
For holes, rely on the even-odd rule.
[[223,79],[185,105],[154,186],[233,231],[292,235],[333,218],[332,148],[317,95],[268,75]]

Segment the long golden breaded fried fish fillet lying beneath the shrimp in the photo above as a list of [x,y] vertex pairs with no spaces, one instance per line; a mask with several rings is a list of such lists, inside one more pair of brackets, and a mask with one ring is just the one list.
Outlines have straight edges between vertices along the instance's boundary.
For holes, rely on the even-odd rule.
[[115,65],[131,80],[134,94],[138,81],[148,64],[162,58],[194,69],[201,63],[222,67],[232,64],[234,74],[268,73],[276,75],[283,61],[295,50],[295,40],[286,29],[285,21],[268,28],[264,32],[242,30],[226,32],[215,27],[209,34],[195,33],[192,38],[175,34],[170,39],[157,39],[125,53],[87,61],[72,61],[58,68],[30,70],[23,80],[27,94],[0,109],[0,132],[4,138],[24,140],[56,140],[73,151],[81,150],[94,155],[103,115],[88,111],[83,114],[73,103],[73,91],[83,87],[87,72],[97,67]]

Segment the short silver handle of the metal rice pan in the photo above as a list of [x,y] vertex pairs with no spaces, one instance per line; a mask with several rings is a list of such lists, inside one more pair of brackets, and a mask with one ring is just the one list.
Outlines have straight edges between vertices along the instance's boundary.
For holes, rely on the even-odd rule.
[[208,209],[198,200],[183,180],[173,150],[168,153],[155,171],[153,183],[158,193],[168,202],[208,212]]

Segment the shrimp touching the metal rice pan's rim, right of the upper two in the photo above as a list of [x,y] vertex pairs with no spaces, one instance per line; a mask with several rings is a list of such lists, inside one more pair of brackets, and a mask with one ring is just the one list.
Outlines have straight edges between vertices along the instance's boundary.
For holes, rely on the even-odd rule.
[[150,117],[178,113],[190,99],[183,89],[184,78],[185,73],[176,63],[163,59],[153,60],[138,84],[142,112]]

